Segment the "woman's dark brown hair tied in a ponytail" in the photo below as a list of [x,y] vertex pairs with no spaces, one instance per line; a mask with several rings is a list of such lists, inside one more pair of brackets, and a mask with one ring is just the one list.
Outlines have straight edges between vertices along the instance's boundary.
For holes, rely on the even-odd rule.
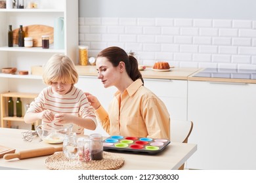
[[125,63],[125,70],[127,74],[130,76],[130,78],[133,81],[140,78],[144,84],[144,80],[138,69],[137,59],[134,56],[128,56],[128,54],[122,48],[119,48],[117,46],[105,48],[104,50],[98,53],[97,58],[98,57],[107,58],[114,67],[117,67],[119,65],[119,62],[123,61]]

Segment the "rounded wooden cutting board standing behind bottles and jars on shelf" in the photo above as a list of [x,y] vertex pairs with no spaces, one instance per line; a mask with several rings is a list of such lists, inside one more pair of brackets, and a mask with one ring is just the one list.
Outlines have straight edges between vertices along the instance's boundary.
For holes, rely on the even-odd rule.
[[[13,32],[13,43],[18,44],[18,29],[14,29]],[[47,25],[28,25],[23,27],[25,37],[33,37],[33,47],[42,46],[42,35],[49,35],[49,43],[53,43],[53,27]]]

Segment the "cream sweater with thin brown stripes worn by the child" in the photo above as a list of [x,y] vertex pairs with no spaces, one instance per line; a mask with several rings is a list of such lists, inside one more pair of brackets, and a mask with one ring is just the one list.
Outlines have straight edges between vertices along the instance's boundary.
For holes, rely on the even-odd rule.
[[[73,86],[72,90],[65,94],[59,95],[54,93],[51,86],[44,88],[39,95],[30,104],[27,112],[42,112],[43,110],[51,110],[54,114],[65,113],[79,116],[81,118],[91,118],[95,125],[96,116],[95,109],[89,103],[85,93]],[[42,124],[49,123],[42,121]],[[52,128],[58,126],[54,123],[49,123]],[[73,124],[73,131],[77,134],[83,133],[83,127]]]

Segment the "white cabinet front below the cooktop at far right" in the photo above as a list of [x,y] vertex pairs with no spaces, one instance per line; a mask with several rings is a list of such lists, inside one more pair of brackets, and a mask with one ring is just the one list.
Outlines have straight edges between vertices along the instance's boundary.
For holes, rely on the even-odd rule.
[[256,84],[188,81],[190,169],[256,169]]

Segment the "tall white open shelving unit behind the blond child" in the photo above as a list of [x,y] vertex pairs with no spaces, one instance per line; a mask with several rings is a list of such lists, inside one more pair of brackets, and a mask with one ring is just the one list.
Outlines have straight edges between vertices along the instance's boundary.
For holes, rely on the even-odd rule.
[[[48,25],[54,27],[54,20],[64,18],[64,49],[54,49],[54,43],[49,49],[41,47],[24,48],[14,45],[7,46],[9,25],[17,29],[19,25]],[[77,63],[78,45],[78,1],[58,0],[40,1],[37,9],[0,9],[0,68],[16,67],[18,71],[30,71],[34,65],[43,65],[53,54],[67,54]],[[0,92],[7,92],[10,87],[9,78],[32,78],[33,75],[9,75],[0,73]],[[37,80],[41,82],[41,80]],[[5,83],[4,85],[2,83]],[[7,84],[6,84],[7,83]],[[29,89],[28,89],[29,90]],[[16,92],[16,91],[12,91]],[[24,91],[27,92],[27,91]]]

